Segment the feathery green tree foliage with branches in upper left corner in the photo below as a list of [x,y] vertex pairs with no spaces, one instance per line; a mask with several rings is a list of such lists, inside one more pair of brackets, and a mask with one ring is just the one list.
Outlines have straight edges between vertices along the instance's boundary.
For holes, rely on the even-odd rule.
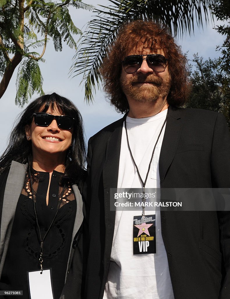
[[52,40],[56,51],[63,42],[76,49],[74,35],[82,33],[69,7],[93,8],[81,0],[0,0],[0,97],[18,64],[16,104],[23,106],[35,91],[43,93],[38,62],[44,61],[47,42]]

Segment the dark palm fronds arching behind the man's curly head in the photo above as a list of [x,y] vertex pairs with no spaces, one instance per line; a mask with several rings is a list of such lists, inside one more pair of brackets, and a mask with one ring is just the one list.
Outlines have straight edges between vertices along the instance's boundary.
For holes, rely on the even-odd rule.
[[174,34],[183,35],[194,30],[194,24],[203,26],[209,19],[208,7],[214,0],[108,0],[110,5],[96,9],[95,19],[90,21],[78,41],[74,62],[70,69],[72,76],[82,75],[85,100],[91,102],[93,93],[99,87],[101,77],[98,69],[107,47],[124,22],[136,19],[152,19],[166,24]]

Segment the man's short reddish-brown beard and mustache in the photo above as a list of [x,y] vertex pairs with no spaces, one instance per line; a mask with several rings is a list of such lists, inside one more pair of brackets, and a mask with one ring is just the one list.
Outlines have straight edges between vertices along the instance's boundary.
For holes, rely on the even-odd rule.
[[[146,82],[142,86],[136,85],[137,82]],[[171,77],[163,79],[156,75],[134,75],[133,77],[121,80],[121,88],[126,96],[129,96],[137,102],[150,103],[158,98],[166,97],[171,87]]]

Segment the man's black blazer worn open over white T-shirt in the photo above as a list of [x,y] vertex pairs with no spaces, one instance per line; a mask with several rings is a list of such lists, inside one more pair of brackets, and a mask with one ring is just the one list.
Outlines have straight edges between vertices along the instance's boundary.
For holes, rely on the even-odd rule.
[[[89,140],[86,299],[103,298],[109,271],[115,223],[109,193],[117,188],[123,121]],[[159,173],[161,188],[229,188],[230,133],[223,115],[170,107]],[[175,299],[229,299],[230,213],[161,211],[161,227]]]

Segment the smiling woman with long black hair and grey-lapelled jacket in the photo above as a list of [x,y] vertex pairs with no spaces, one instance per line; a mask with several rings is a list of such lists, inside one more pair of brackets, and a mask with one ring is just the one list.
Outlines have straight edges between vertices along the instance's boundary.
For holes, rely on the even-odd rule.
[[55,93],[30,103],[0,159],[0,290],[60,297],[83,219],[84,162],[74,104]]

